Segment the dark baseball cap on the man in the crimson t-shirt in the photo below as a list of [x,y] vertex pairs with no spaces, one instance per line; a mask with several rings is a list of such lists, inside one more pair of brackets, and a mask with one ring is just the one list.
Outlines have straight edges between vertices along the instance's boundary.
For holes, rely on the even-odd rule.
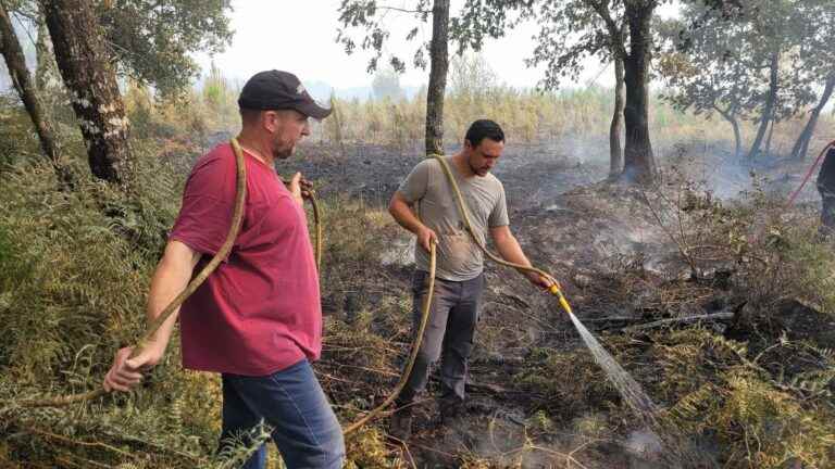
[[296,75],[282,71],[254,74],[240,90],[238,106],[263,111],[291,109],[320,121],[331,115],[329,105],[317,103]]

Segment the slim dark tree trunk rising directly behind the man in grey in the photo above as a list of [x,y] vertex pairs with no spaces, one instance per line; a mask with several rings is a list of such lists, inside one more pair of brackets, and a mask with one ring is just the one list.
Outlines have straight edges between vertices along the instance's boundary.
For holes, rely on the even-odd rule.
[[426,154],[444,154],[444,93],[449,68],[449,0],[432,9],[429,88],[426,90]]

